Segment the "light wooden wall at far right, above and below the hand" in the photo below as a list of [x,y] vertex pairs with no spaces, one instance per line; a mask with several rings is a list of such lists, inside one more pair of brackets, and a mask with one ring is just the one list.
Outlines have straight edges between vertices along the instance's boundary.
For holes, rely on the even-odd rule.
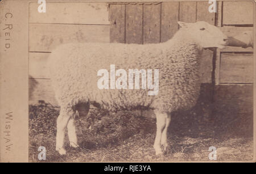
[[[217,26],[227,36],[236,36],[245,31],[253,31],[253,3],[219,3]],[[253,48],[226,46],[217,50],[216,84],[252,84]]]

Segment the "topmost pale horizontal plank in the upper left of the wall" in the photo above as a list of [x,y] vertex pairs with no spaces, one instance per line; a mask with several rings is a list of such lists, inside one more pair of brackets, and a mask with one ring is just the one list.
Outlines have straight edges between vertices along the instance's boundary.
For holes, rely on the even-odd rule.
[[47,2],[46,12],[30,3],[30,23],[109,24],[106,3]]

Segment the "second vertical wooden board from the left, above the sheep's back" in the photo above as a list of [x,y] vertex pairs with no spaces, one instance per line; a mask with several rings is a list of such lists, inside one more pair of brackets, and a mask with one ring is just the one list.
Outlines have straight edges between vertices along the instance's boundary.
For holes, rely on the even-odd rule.
[[143,5],[126,5],[126,43],[143,44]]

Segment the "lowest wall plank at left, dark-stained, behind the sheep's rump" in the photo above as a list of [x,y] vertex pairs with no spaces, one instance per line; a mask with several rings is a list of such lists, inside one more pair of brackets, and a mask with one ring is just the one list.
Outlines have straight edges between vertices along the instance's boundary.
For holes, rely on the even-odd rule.
[[54,91],[52,90],[51,80],[30,78],[28,81],[28,86],[29,104],[38,104],[39,100],[44,100],[45,103],[49,103],[54,107],[58,106]]

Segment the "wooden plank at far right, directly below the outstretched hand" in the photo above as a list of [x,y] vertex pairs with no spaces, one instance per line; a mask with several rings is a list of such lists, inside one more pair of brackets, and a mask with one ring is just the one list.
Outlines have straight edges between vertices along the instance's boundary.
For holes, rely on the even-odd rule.
[[221,53],[220,83],[253,83],[253,54]]

